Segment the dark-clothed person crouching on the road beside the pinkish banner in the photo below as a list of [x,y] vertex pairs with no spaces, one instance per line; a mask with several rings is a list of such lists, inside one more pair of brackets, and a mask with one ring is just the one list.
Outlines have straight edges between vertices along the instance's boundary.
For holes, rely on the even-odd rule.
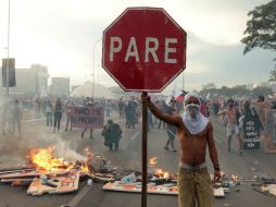
[[122,130],[117,123],[113,123],[112,120],[108,120],[108,124],[104,125],[101,135],[104,137],[104,145],[110,150],[118,150],[118,143],[122,138]]

